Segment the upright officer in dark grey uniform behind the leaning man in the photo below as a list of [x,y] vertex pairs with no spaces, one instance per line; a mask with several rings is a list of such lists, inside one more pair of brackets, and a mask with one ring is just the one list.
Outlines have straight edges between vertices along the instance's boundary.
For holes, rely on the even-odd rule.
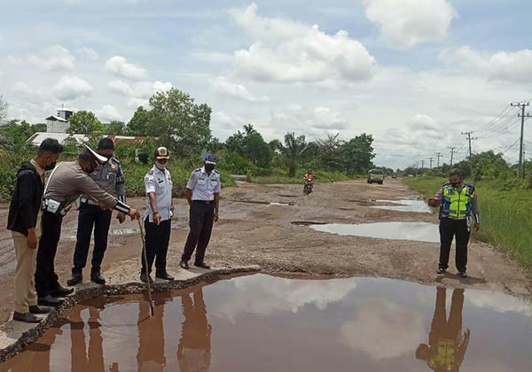
[[[117,197],[122,203],[126,203],[126,187],[120,162],[113,158],[114,143],[109,138],[102,138],[98,143],[98,154],[108,159],[106,163],[98,166],[90,174],[90,178],[104,191]],[[74,267],[72,277],[66,282],[68,285],[82,283],[82,271],[87,263],[89,255],[90,235],[94,228],[94,252],[90,269],[90,281],[97,284],[105,284],[106,279],[100,273],[102,260],[107,248],[107,236],[111,225],[113,211],[102,209],[98,202],[85,194],[80,198],[78,214],[77,239],[74,250]],[[125,221],[126,215],[119,212],[117,219]]]

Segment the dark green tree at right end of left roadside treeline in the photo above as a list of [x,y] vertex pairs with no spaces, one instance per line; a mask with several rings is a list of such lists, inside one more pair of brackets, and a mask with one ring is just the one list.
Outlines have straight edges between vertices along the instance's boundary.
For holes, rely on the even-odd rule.
[[348,174],[364,174],[373,167],[373,136],[363,133],[351,138],[342,146],[344,171]]

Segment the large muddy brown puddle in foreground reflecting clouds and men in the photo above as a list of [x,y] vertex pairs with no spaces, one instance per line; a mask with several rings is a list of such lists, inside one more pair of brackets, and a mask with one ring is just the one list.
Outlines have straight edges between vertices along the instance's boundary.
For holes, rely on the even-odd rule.
[[350,278],[241,276],[94,299],[0,371],[532,369],[532,299]]

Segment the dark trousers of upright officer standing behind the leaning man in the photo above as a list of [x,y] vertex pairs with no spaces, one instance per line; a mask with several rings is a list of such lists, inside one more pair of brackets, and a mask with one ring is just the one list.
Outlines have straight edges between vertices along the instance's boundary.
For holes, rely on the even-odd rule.
[[113,211],[103,211],[98,205],[82,203],[78,214],[78,229],[74,249],[72,274],[82,274],[89,256],[90,235],[94,227],[94,251],[92,252],[92,273],[99,273],[107,249],[107,236]]

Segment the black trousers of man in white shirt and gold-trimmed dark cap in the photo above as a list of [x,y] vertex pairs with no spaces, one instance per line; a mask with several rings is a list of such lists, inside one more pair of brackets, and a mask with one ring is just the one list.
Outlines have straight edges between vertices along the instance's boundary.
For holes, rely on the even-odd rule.
[[[148,259],[148,272],[152,272],[155,261],[156,273],[166,273],[168,243],[170,242],[171,220],[160,221],[159,226],[145,219],[146,256]],[[142,271],[146,272],[144,257],[141,257]]]

